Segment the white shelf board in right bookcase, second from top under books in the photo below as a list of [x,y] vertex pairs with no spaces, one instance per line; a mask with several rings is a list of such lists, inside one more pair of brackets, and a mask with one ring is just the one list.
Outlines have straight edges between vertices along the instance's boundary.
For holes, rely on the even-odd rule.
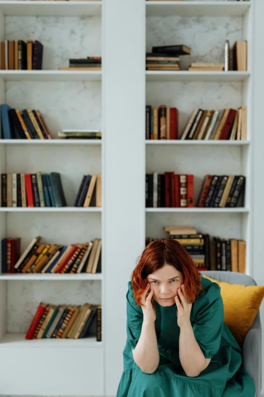
[[146,139],[146,145],[198,145],[198,146],[247,146],[250,145],[250,140],[153,140],[153,139]]

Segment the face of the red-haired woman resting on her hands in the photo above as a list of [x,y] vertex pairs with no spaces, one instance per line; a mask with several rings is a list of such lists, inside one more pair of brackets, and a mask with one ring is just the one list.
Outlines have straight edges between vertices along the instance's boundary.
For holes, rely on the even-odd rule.
[[153,290],[153,299],[160,306],[172,306],[175,304],[175,296],[178,296],[178,288],[184,282],[183,273],[174,266],[164,265],[147,276],[150,283],[149,291]]

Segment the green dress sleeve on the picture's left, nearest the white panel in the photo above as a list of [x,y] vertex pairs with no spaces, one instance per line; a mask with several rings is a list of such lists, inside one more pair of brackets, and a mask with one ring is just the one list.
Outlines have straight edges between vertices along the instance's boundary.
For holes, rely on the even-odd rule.
[[126,294],[126,316],[127,341],[131,348],[135,349],[141,335],[143,312],[142,308],[136,305],[130,281],[128,282],[128,291]]

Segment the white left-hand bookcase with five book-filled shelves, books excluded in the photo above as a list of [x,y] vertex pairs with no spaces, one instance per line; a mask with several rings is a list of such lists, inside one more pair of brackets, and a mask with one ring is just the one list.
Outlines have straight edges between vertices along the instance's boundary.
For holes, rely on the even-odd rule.
[[[25,339],[41,301],[103,302],[103,71],[58,70],[68,66],[70,57],[102,54],[102,9],[101,1],[0,2],[0,40],[32,39],[44,46],[42,70],[0,70],[0,102],[20,110],[39,109],[55,138],[0,140],[0,172],[60,172],[68,205],[1,207],[0,238],[20,236],[21,253],[36,235],[47,243],[60,244],[102,238],[102,273],[0,274],[0,368],[11,368],[15,354],[13,370],[18,374],[16,382],[6,376],[1,391],[6,394],[104,394],[104,338],[96,341],[95,323],[92,336],[85,339],[64,339],[59,343],[55,339]],[[58,131],[64,128],[100,129],[103,138],[58,139]],[[87,173],[102,174],[102,207],[73,206],[82,175]],[[40,367],[32,368],[34,380],[25,382],[28,365],[31,368],[40,356]],[[41,380],[45,371],[49,377],[47,385]]]

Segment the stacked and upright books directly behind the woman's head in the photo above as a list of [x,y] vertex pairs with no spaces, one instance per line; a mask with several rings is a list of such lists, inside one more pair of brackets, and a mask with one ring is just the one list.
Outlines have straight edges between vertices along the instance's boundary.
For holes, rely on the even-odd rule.
[[[201,270],[245,273],[246,242],[242,239],[212,237],[192,226],[165,226],[164,231],[181,243]],[[156,238],[146,238],[146,245]]]

